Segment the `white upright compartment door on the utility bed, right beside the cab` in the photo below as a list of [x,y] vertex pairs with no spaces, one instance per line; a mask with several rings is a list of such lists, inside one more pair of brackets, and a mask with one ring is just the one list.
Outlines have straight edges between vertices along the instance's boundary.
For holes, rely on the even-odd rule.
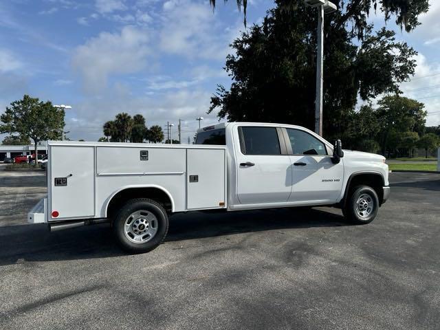
[[186,203],[188,210],[224,208],[225,149],[188,148]]

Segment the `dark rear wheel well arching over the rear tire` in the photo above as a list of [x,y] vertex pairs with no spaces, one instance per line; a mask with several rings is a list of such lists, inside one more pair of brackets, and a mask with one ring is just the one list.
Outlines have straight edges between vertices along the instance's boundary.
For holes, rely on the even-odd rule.
[[121,206],[130,199],[135,198],[150,198],[164,206],[165,210],[170,211],[173,208],[170,197],[164,190],[154,187],[145,188],[126,188],[121,190],[112,197],[107,206],[107,217],[112,217]]

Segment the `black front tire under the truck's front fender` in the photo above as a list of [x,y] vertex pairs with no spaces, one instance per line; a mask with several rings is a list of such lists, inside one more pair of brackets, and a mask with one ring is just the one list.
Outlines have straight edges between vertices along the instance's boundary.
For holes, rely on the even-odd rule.
[[[362,198],[360,200],[362,204],[358,206],[361,196],[366,198]],[[342,208],[342,213],[351,223],[364,225],[375,219],[378,210],[379,198],[375,190],[370,186],[356,186],[350,189],[347,202],[344,208]]]

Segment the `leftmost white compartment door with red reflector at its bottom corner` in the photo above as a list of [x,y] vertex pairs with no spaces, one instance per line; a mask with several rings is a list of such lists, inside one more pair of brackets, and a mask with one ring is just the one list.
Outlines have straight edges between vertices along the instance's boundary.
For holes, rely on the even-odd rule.
[[[93,146],[52,146],[49,220],[94,216],[94,158]],[[53,211],[58,217],[52,217]]]

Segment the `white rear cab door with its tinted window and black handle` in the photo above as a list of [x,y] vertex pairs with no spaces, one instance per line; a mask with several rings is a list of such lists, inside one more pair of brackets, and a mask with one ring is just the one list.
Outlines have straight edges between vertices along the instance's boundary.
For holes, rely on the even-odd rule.
[[242,204],[282,203],[289,198],[292,170],[280,128],[239,126],[237,196]]

